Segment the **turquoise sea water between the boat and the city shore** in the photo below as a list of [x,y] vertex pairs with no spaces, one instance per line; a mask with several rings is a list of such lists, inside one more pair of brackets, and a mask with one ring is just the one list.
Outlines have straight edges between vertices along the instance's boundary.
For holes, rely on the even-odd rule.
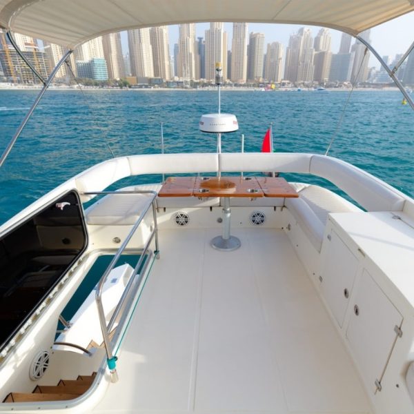
[[[1,153],[37,93],[0,90]],[[413,196],[413,110],[402,105],[400,92],[354,91],[346,106],[348,97],[348,91],[224,91],[221,111],[237,116],[239,131],[223,137],[222,150],[239,151],[244,134],[245,151],[259,151],[270,123],[280,152],[324,154],[335,136],[329,155]],[[160,152],[161,123],[165,152],[215,152],[216,137],[198,130],[208,112],[217,112],[213,90],[49,90],[0,168],[0,224],[112,153]],[[135,177],[126,184],[160,179]]]

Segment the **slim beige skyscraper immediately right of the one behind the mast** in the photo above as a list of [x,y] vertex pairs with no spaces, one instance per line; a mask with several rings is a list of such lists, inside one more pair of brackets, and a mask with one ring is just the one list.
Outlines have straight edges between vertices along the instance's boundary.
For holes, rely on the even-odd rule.
[[233,23],[230,80],[237,83],[247,79],[247,30],[247,23]]

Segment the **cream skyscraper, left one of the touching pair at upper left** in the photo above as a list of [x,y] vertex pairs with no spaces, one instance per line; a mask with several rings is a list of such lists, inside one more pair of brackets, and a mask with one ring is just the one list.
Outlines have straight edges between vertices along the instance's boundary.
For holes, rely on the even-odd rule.
[[128,30],[131,73],[136,77],[154,77],[150,29]]

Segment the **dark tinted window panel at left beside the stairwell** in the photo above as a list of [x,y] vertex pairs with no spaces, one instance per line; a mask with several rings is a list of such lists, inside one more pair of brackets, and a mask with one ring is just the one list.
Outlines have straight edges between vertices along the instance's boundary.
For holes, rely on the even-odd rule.
[[86,248],[77,193],[70,192],[0,239],[0,348]]

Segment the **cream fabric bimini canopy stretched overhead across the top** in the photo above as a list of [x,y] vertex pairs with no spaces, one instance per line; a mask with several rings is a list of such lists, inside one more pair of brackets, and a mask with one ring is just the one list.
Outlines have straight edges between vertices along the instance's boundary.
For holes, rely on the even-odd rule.
[[200,21],[325,26],[356,35],[414,0],[0,0],[0,28],[67,48],[109,32]]

